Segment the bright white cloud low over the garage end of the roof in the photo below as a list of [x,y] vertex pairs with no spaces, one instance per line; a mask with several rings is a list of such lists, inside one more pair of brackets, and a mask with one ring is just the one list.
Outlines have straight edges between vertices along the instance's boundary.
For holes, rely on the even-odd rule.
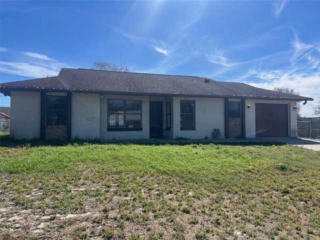
[[[296,40],[291,51],[297,56],[294,62],[291,62],[289,55],[286,54],[288,56],[286,64],[280,66],[267,64],[269,66],[267,68],[262,67],[262,64],[258,67],[249,67],[246,73],[232,80],[270,90],[280,86],[293,88],[302,96],[314,98],[314,101],[309,101],[301,107],[301,115],[312,116],[312,107],[320,104],[320,91],[318,87],[314,87],[320,86],[320,59],[318,54],[313,52],[313,46],[298,42]],[[275,58],[271,59],[276,62]]]

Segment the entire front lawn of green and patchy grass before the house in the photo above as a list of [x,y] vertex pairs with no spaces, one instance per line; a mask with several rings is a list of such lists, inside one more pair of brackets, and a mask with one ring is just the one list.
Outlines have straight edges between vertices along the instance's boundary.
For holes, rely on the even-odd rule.
[[320,152],[2,137],[1,145],[0,239],[320,237]]

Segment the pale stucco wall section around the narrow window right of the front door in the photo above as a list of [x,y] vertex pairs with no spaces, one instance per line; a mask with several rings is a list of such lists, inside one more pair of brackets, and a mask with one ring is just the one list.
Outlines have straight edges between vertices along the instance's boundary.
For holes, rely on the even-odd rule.
[[[195,101],[195,130],[180,130],[180,100]],[[221,138],[224,138],[224,99],[174,97],[172,119],[174,138],[212,138],[215,128],[220,130]]]

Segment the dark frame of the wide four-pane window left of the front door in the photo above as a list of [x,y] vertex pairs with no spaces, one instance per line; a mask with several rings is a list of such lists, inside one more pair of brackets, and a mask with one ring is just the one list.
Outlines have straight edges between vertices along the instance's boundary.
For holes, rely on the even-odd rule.
[[[117,101],[117,102],[121,102],[122,101],[122,105],[123,105],[123,109],[122,111],[117,112],[110,112],[111,106],[109,105],[112,101]],[[134,112],[130,112],[133,110],[129,110],[128,106],[127,106],[127,102],[129,101],[135,101],[138,102],[139,104],[139,113],[134,113]],[[117,115],[116,119],[114,119],[114,125],[112,126],[111,121],[110,121],[110,117],[111,115],[115,116]],[[132,121],[132,127],[130,127],[128,125],[128,118],[129,116],[133,117],[133,119],[131,119]],[[139,116],[138,120],[134,120],[134,116]],[[121,119],[122,124],[116,125],[116,123],[119,123],[119,118]],[[136,121],[139,121],[138,126],[136,125]],[[108,99],[107,100],[107,131],[141,131],[142,130],[142,101],[141,100],[135,100],[135,99]]]

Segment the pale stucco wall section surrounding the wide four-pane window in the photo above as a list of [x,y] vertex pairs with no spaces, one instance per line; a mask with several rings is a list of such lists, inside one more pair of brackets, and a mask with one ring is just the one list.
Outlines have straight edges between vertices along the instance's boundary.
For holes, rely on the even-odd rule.
[[[107,130],[107,100],[141,100],[141,131],[108,131]],[[149,138],[149,97],[130,95],[100,95],[100,139],[147,139]]]

